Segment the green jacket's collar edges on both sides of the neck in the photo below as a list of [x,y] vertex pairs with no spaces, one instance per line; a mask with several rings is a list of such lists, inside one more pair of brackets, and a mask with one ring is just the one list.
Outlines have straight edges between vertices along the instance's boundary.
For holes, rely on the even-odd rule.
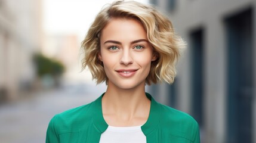
[[[103,95],[104,94],[102,94],[97,100],[95,100],[94,104],[92,105],[92,120],[94,126],[100,133],[103,133],[109,126],[104,120],[102,113],[101,100]],[[141,130],[143,131],[144,135],[147,136],[150,132],[153,131],[153,129],[156,128],[156,126],[158,126],[161,112],[158,102],[156,102],[150,94],[146,93],[146,96],[151,101],[150,113],[149,119],[147,119],[147,122],[143,126],[141,126]]]

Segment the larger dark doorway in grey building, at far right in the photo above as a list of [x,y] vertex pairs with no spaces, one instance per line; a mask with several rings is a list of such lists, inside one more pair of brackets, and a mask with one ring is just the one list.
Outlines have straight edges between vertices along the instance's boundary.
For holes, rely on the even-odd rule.
[[252,9],[226,18],[227,142],[252,142]]

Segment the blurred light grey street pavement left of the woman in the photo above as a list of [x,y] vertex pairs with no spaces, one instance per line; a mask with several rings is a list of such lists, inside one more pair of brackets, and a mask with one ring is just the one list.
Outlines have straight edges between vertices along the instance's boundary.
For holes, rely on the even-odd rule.
[[48,123],[55,114],[94,101],[105,90],[104,84],[65,85],[0,105],[0,143],[45,142]]

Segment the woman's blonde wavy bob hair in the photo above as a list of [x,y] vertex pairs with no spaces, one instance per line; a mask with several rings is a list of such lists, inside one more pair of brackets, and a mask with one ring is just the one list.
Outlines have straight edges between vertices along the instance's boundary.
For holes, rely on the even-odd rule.
[[171,21],[150,5],[135,1],[115,1],[103,8],[96,16],[82,41],[85,57],[82,59],[82,70],[88,66],[92,79],[97,84],[106,81],[107,76],[103,63],[98,59],[100,52],[100,33],[112,18],[134,18],[141,22],[147,33],[147,40],[157,55],[152,61],[146,83],[150,85],[165,81],[174,82],[176,75],[175,64],[180,55],[180,48],[186,45],[180,36],[174,33]]

